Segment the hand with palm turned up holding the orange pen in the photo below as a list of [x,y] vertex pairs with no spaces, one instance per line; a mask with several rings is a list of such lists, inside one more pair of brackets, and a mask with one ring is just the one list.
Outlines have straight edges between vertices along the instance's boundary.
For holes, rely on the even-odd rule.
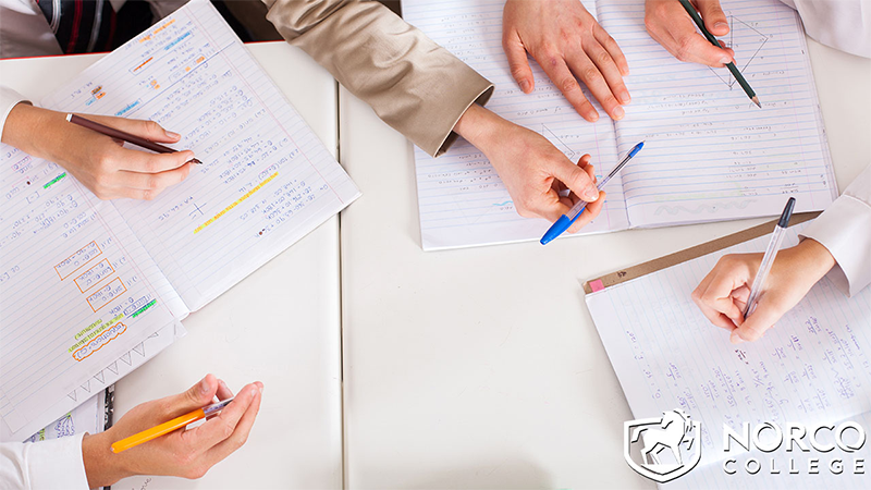
[[88,486],[109,486],[133,475],[201,477],[245,443],[260,409],[262,389],[259,381],[246,384],[235,400],[204,424],[115,454],[111,450],[113,442],[214,403],[216,395],[226,400],[233,393],[223,381],[208,375],[184,393],[133,407],[106,432],[83,439]]

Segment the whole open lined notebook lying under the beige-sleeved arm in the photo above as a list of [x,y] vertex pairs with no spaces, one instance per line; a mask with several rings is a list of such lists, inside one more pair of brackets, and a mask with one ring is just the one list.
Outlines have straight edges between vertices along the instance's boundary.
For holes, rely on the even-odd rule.
[[[573,161],[590,154],[600,177],[647,140],[608,185],[604,209],[584,233],[773,216],[784,194],[797,197],[799,211],[820,210],[836,197],[805,34],[778,0],[724,5],[732,32],[723,40],[761,110],[726,69],[682,63],[651,39],[643,0],[585,1],[629,63],[633,101],[616,123],[596,102],[599,121],[584,121],[531,57],[536,89],[519,90],[502,51],[503,4],[403,0],[403,14],[495,84],[490,110],[542,134]],[[520,218],[495,170],[464,140],[436,159],[418,148],[415,161],[425,249],[539,240],[550,224]]]

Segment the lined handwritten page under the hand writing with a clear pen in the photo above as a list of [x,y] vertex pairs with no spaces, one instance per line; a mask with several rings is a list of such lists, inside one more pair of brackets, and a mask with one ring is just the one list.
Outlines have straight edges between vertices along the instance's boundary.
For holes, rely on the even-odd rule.
[[[798,243],[803,226],[787,230],[784,248]],[[714,464],[724,458],[723,424],[739,430],[743,422],[861,421],[871,411],[871,287],[848,298],[824,278],[761,340],[738,345],[690,298],[721,256],[763,252],[769,240],[765,235],[587,295],[633,415],[655,417],[682,408],[702,422],[699,466],[713,469],[697,468],[677,480],[689,488],[735,481],[724,479]],[[717,479],[706,479],[714,473]],[[819,488],[777,475],[755,477],[749,488]],[[841,477],[846,483],[846,475],[837,481]]]

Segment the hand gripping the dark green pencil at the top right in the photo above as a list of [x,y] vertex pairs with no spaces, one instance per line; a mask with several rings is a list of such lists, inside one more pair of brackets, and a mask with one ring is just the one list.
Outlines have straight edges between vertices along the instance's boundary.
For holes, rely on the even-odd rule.
[[[692,0],[704,27],[714,36],[728,34],[726,14],[719,0]],[[723,68],[734,60],[735,51],[712,45],[696,27],[696,23],[677,0],[647,0],[645,26],[650,37],[680,61]]]

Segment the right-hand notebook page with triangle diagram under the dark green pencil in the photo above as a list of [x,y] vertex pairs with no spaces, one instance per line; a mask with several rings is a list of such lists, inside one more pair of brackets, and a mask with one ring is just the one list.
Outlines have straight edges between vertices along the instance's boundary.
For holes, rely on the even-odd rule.
[[643,166],[623,171],[633,226],[773,216],[837,197],[817,89],[794,10],[777,0],[724,4],[737,66],[757,108],[727,69],[682,63],[645,29],[642,0],[598,3],[599,21],[629,63],[633,96],[616,125],[621,147],[647,139]]

